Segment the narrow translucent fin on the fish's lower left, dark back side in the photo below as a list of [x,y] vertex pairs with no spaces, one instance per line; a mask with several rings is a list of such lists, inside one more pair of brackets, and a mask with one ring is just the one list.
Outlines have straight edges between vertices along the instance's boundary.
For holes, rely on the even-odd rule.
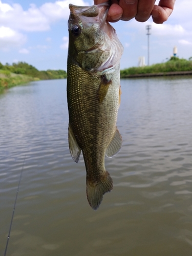
[[80,154],[81,154],[81,149],[79,147],[79,145],[77,144],[77,141],[76,141],[76,138],[75,138],[75,135],[73,133],[73,130],[71,128],[71,125],[69,123],[69,133],[68,133],[68,139],[69,139],[69,150],[70,150],[70,153],[71,153],[71,156],[73,158],[73,160],[78,163],[79,161],[79,157],[80,157]]

